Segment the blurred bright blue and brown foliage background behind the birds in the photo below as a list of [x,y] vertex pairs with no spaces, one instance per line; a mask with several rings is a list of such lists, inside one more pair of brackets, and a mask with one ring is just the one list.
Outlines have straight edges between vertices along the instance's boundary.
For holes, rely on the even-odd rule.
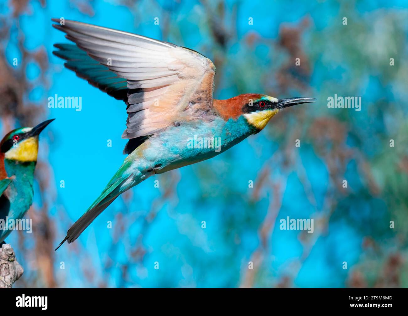
[[[217,99],[318,101],[142,182],[54,252],[126,143],[124,103],[52,55],[68,42],[51,27],[60,17],[199,51]],[[25,270],[16,287],[408,286],[408,2],[0,0],[0,29],[1,135],[56,118],[40,141],[34,231],[7,239]],[[54,94],[82,97],[82,111],[49,109]],[[334,94],[361,97],[361,111],[328,108]],[[280,230],[286,216],[313,218],[314,233]]]

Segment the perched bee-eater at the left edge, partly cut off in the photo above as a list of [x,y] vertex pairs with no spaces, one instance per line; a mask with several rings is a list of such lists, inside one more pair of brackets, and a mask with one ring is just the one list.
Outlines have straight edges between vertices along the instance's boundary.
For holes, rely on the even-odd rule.
[[[0,220],[3,225],[24,217],[33,203],[38,136],[52,121],[14,129],[0,143]],[[9,233],[10,229],[0,230],[0,244]]]

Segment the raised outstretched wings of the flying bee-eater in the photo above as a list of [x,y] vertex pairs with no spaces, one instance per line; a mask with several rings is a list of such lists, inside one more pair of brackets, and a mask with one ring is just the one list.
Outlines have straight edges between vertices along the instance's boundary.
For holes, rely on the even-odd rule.
[[71,57],[60,48],[56,55],[67,59],[67,67],[89,83],[126,101],[127,128],[122,138],[148,136],[211,110],[215,66],[210,59],[132,33],[70,20],[64,20],[63,25],[59,19],[53,21],[58,22],[53,24],[56,29],[67,33],[67,39],[87,54]]

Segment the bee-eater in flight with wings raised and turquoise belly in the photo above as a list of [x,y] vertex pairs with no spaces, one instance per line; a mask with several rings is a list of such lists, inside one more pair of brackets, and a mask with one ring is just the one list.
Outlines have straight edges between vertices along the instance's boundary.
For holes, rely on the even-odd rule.
[[194,50],[141,35],[52,19],[76,44],[54,54],[91,85],[123,100],[128,156],[88,210],[69,228],[73,242],[121,193],[157,173],[212,158],[261,131],[283,108],[314,102],[241,94],[213,99],[215,66]]

